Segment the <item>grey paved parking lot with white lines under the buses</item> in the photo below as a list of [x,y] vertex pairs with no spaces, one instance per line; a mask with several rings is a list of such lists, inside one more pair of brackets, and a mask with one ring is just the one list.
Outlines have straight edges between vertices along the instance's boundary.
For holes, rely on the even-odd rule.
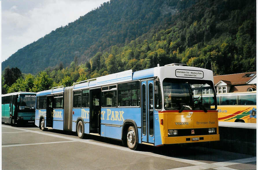
[[2,169],[256,169],[256,157],[201,146],[142,145],[2,125]]

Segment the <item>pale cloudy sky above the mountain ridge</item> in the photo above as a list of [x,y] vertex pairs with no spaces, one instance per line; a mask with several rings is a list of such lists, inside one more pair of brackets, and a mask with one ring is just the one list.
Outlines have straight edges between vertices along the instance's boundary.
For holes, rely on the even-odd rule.
[[108,0],[2,0],[1,62]]

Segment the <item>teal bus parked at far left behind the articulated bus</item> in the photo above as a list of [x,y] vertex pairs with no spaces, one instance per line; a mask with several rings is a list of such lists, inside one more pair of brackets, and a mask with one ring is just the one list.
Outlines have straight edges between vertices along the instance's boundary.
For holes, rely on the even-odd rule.
[[35,105],[36,93],[16,92],[2,95],[2,123],[34,124]]

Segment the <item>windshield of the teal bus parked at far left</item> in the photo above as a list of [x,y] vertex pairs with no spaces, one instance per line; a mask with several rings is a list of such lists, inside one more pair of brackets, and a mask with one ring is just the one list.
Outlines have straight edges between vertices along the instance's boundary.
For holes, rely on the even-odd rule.
[[35,110],[36,95],[20,95],[20,110]]

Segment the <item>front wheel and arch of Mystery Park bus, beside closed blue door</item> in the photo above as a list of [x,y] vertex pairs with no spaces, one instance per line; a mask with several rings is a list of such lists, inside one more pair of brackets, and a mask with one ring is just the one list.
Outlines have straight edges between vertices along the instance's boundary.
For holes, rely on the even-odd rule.
[[122,143],[132,150],[136,150],[138,146],[138,131],[136,123],[133,120],[125,120],[122,130]]

